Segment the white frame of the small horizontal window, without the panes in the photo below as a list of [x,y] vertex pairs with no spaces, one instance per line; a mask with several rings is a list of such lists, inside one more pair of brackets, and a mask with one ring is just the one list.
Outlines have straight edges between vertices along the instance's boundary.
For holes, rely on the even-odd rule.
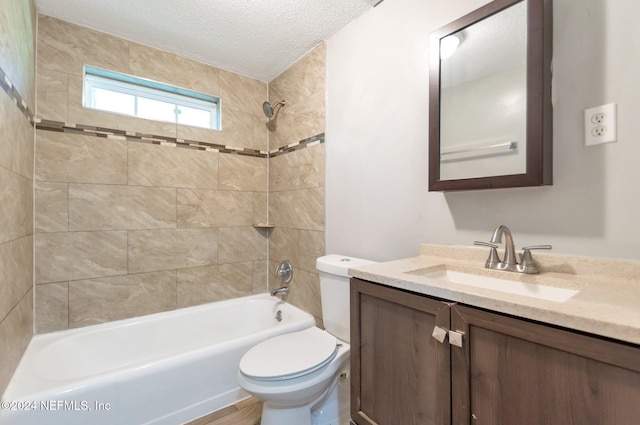
[[[220,98],[190,89],[172,86],[166,83],[152,81],[146,78],[135,77],[116,71],[97,68],[90,65],[83,67],[83,96],[82,106],[95,111],[108,112],[118,115],[132,116],[141,119],[150,119],[159,122],[169,122],[176,125],[220,130]],[[115,112],[113,110],[95,107],[93,89],[102,89],[110,92],[126,94],[134,97],[134,114]],[[174,120],[162,120],[146,118],[139,115],[138,98],[146,98],[174,105]],[[184,124],[179,122],[180,106],[199,109],[209,112],[208,126],[196,124]],[[176,112],[177,111],[177,112]]]

